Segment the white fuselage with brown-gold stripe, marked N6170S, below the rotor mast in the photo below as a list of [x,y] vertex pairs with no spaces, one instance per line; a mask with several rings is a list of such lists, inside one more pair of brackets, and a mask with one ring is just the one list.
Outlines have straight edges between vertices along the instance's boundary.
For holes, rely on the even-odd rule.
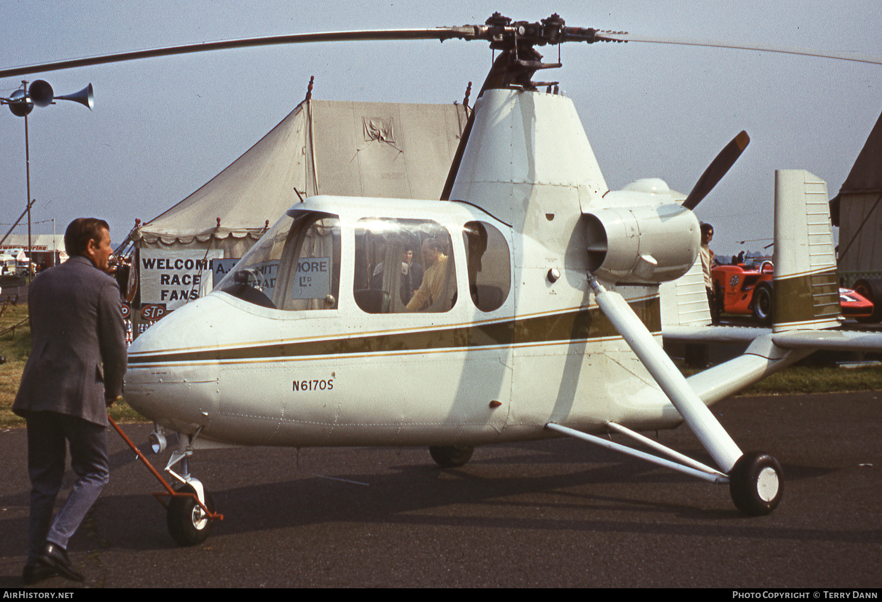
[[[470,282],[475,223],[489,234]],[[429,239],[447,247],[441,298],[408,309],[400,257],[414,251],[415,271]],[[280,248],[265,252],[270,241]],[[139,412],[206,440],[298,447],[475,446],[549,436],[549,422],[681,421],[591,303],[585,267],[477,207],[314,197],[235,267],[248,269],[248,283],[231,272],[138,337],[126,398]],[[660,336],[657,292],[626,296]]]

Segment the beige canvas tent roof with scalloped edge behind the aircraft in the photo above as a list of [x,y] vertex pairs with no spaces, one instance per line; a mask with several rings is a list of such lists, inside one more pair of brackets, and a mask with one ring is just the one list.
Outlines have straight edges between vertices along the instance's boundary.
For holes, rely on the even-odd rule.
[[297,192],[438,199],[465,125],[455,104],[304,101],[133,237],[141,248],[211,245],[241,257]]

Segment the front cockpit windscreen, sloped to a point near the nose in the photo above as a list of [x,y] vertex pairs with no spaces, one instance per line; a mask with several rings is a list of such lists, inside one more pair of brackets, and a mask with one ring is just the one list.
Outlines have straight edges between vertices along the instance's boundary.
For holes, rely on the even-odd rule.
[[335,309],[340,220],[315,211],[288,211],[215,290],[286,311]]

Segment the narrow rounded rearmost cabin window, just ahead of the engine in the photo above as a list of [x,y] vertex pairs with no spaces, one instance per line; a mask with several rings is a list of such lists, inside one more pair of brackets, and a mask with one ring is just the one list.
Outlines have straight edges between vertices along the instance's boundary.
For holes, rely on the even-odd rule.
[[472,302],[482,312],[499,309],[512,288],[512,257],[505,237],[487,222],[467,222],[462,242]]

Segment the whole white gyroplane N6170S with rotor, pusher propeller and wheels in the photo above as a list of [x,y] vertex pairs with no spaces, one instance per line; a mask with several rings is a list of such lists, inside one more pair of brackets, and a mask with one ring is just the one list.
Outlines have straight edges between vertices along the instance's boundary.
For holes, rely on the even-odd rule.
[[[780,464],[744,453],[708,406],[812,350],[882,340],[830,330],[841,315],[826,184],[784,170],[775,177],[774,286],[787,302],[742,356],[684,378],[662,350],[662,312],[672,316],[666,334],[730,336],[693,319],[707,312],[704,288],[683,278],[694,275],[700,245],[692,210],[749,137],[724,147],[688,195],[657,178],[610,191],[572,101],[558,82],[534,77],[561,66],[537,47],[624,33],[566,26],[557,14],[531,23],[496,13],[476,26],[221,41],[0,77],[211,49],[409,39],[482,40],[498,53],[441,199],[295,199],[211,294],[131,345],[126,401],[155,422],[155,450],[177,440],[166,470],[194,494],[168,505],[172,535],[182,544],[207,537],[213,501],[188,459],[225,446],[426,446],[455,467],[477,446],[569,436],[729,485],[744,514],[772,512]],[[664,304],[662,284],[673,291]],[[715,467],[640,434],[684,423]]]

